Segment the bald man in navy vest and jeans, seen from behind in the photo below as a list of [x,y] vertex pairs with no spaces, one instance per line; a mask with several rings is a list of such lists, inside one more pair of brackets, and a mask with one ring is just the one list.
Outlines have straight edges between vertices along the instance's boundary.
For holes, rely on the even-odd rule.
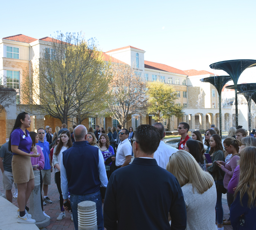
[[[86,200],[94,201],[98,230],[104,230],[100,185],[106,188],[108,178],[103,155],[99,148],[86,141],[87,129],[85,126],[76,126],[74,138],[73,146],[63,152],[60,162],[61,191],[64,203],[71,201],[74,226],[78,230],[77,205]],[[68,189],[70,200],[68,199]]]

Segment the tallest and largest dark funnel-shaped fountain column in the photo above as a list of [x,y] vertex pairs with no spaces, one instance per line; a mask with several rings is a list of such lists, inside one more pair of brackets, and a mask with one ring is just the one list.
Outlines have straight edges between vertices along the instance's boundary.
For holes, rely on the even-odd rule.
[[221,69],[230,75],[234,82],[235,89],[235,105],[236,105],[236,127],[238,126],[238,108],[237,108],[237,81],[241,73],[249,68],[256,66],[256,60],[250,59],[239,59],[239,60],[228,60],[223,62],[216,62],[210,65],[212,69]]

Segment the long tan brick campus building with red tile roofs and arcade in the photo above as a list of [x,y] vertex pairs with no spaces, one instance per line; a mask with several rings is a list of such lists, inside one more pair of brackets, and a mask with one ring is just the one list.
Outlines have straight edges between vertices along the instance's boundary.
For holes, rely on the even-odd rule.
[[[0,114],[0,144],[6,142],[13,128],[17,114],[26,108],[22,101],[20,85],[23,82],[24,76],[33,71],[33,65],[36,65],[40,53],[47,52],[51,55],[51,40],[50,37],[35,39],[32,37],[18,34],[15,36],[4,37],[0,40],[0,79],[1,83],[16,90],[16,104],[6,108]],[[181,121],[188,122],[191,129],[207,129],[210,124],[218,126],[218,92],[209,83],[200,82],[201,78],[214,76],[213,73],[197,70],[180,70],[172,66],[147,61],[144,59],[145,51],[132,46],[125,46],[119,49],[103,52],[103,58],[106,62],[111,60],[114,63],[122,63],[130,65],[141,76],[143,81],[161,81],[169,84],[177,91],[177,103],[183,105],[184,116],[177,119],[175,116],[163,121],[164,127],[169,131],[177,128]],[[222,96],[228,96],[223,101],[223,130],[228,130],[234,126],[234,113],[232,97],[234,92],[231,90],[223,90]],[[233,94],[232,94],[233,93]],[[247,102],[243,96],[240,96],[239,105],[239,125],[247,128]],[[255,127],[256,107],[252,103],[252,127]],[[55,126],[61,126],[61,121],[52,118],[48,114],[31,115],[32,124],[29,131],[37,130],[38,128],[49,125],[53,131]],[[153,124],[151,114],[131,114],[131,121],[127,122],[127,127],[132,126],[134,129],[140,124]],[[76,118],[73,118],[75,121]],[[82,123],[86,127],[100,125],[105,128],[108,126],[116,126],[118,122],[112,118],[87,118]],[[68,122],[68,127],[73,125],[73,122]],[[125,128],[127,128],[125,127]]]

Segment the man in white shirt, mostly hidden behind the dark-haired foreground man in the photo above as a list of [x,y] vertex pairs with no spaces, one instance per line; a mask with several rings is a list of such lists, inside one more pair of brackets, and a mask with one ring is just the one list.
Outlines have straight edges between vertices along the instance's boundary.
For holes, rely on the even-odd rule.
[[156,159],[157,164],[161,168],[166,169],[166,165],[169,162],[170,156],[174,152],[177,152],[178,149],[164,143],[165,131],[162,123],[156,122],[153,124],[153,126],[156,127],[156,129],[159,131],[161,138],[159,147],[157,148],[157,151],[154,153],[154,159]]

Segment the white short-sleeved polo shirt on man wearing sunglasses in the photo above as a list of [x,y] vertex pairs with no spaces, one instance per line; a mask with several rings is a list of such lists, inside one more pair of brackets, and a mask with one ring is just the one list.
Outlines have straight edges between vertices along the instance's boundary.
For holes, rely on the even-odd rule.
[[125,157],[132,155],[132,145],[128,138],[121,141],[116,151],[116,166],[122,166],[125,162]]

